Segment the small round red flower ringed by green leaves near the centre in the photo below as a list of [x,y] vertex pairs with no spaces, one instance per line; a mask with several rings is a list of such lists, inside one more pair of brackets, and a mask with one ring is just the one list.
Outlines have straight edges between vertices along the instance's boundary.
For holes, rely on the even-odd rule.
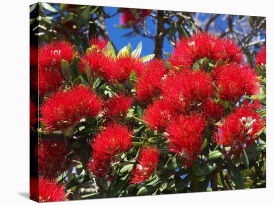
[[125,95],[114,96],[104,103],[104,116],[112,120],[123,119],[134,100]]

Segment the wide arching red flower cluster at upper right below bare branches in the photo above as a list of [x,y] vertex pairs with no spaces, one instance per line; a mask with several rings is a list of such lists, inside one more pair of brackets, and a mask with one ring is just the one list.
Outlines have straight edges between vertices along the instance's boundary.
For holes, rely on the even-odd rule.
[[230,39],[221,39],[210,33],[199,32],[190,38],[181,38],[169,60],[173,66],[189,68],[201,58],[240,63],[242,51]]

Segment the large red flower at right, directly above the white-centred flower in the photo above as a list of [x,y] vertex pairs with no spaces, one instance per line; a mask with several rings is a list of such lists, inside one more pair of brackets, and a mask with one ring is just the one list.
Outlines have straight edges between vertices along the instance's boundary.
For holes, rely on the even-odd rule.
[[212,76],[219,87],[219,98],[225,101],[238,102],[243,95],[260,93],[259,78],[249,65],[230,63],[216,67]]

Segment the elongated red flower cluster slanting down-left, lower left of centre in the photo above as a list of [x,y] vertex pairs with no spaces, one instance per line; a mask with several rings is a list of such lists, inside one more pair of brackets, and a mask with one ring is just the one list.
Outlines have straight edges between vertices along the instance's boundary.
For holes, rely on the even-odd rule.
[[90,172],[98,177],[103,177],[111,162],[123,152],[128,151],[132,146],[132,131],[127,126],[117,123],[109,124],[105,130],[97,134],[92,147],[92,159],[88,163]]

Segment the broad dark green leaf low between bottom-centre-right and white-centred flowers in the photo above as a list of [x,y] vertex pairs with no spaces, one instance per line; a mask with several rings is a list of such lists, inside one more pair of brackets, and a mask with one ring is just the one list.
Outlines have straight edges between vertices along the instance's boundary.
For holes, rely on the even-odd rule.
[[211,174],[216,168],[217,164],[215,161],[207,161],[200,165],[199,161],[196,160],[192,166],[193,173],[196,176],[205,176]]

